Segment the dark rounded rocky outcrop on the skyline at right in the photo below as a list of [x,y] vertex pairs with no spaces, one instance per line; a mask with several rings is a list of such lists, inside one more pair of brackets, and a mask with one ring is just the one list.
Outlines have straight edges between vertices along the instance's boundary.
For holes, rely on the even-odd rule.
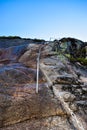
[[61,50],[63,53],[70,54],[73,58],[85,58],[87,54],[87,43],[74,38],[62,38],[54,40],[53,50]]

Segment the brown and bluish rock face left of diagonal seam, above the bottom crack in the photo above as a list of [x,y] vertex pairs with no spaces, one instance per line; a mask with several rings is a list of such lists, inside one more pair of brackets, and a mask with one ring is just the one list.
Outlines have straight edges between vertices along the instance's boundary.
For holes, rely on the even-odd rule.
[[[41,72],[39,94],[36,94],[36,61],[34,61],[34,57],[37,56],[38,47],[39,45],[34,46],[32,55],[31,46],[28,45],[1,49],[0,127],[33,118],[66,115],[60,102],[45,85],[46,81]],[[27,53],[30,55],[27,56]]]

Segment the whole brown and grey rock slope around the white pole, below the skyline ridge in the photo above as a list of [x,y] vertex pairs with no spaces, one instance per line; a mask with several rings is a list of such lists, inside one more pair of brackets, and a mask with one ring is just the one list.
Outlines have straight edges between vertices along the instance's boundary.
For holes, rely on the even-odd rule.
[[55,53],[53,43],[44,44],[36,94],[40,46],[0,49],[0,130],[86,130],[86,66]]

